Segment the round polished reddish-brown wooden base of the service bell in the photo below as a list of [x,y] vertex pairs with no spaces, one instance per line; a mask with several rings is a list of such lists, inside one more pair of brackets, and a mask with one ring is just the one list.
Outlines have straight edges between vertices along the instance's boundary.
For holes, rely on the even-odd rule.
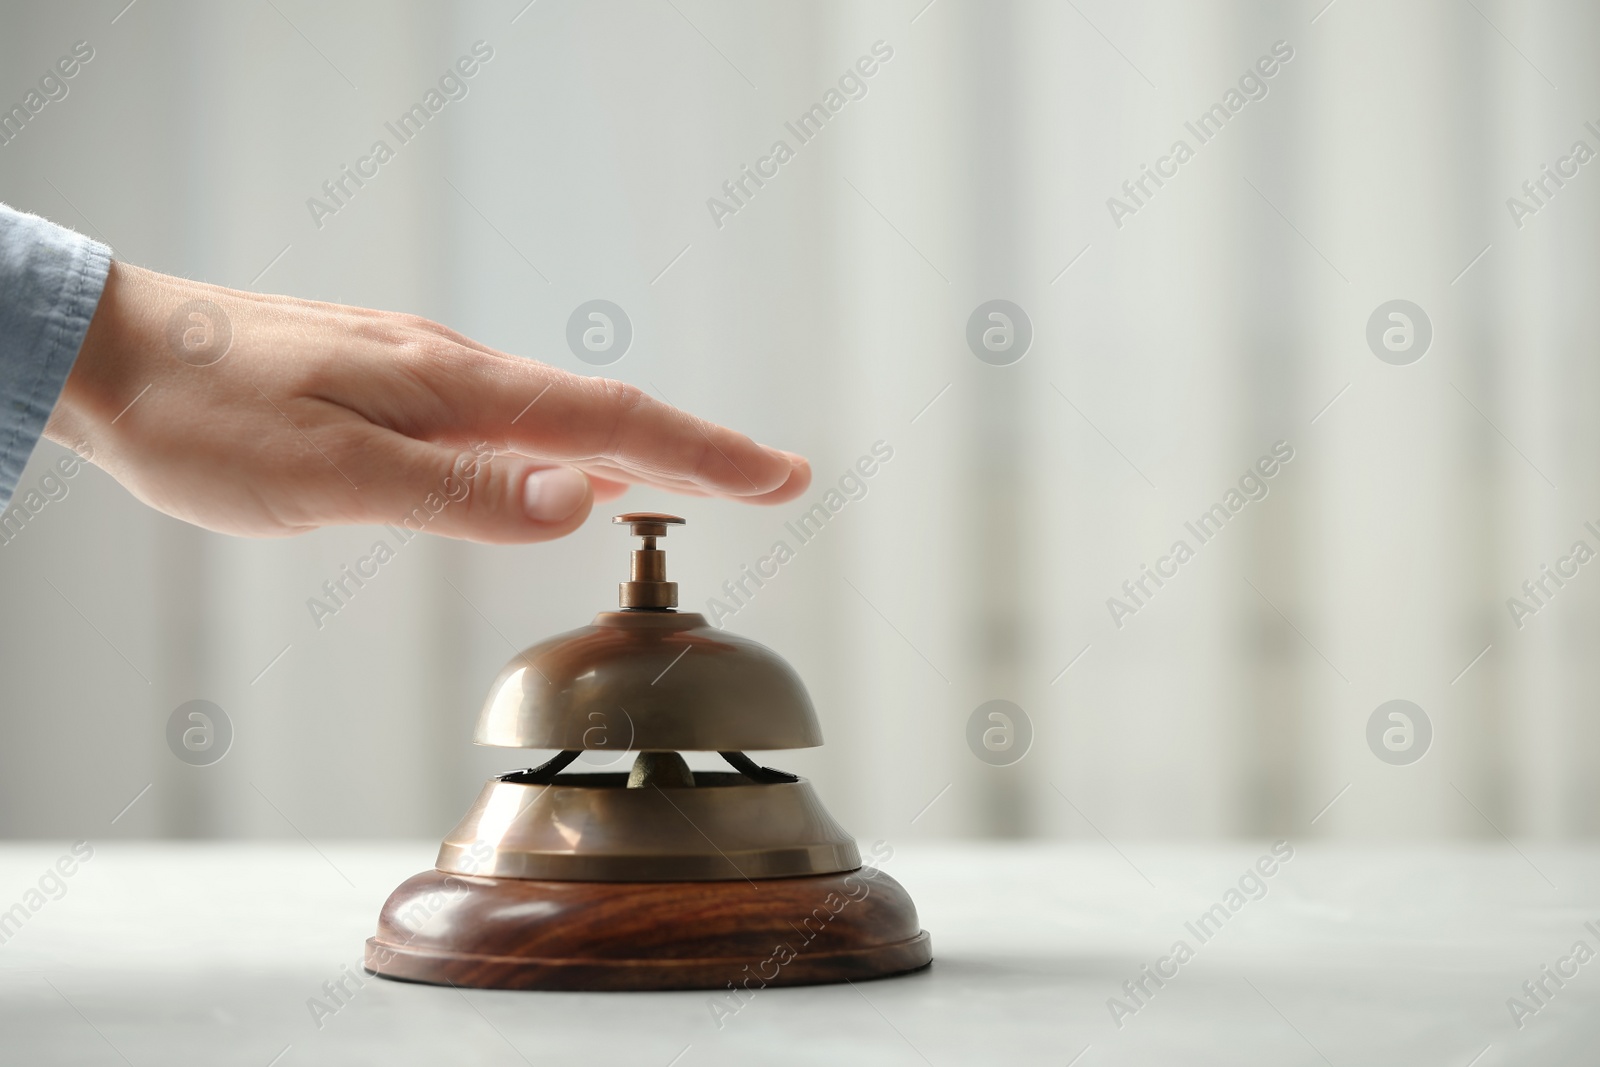
[[541,881],[426,870],[366,941],[384,977],[478,989],[734,989],[886,977],[933,960],[886,873]]

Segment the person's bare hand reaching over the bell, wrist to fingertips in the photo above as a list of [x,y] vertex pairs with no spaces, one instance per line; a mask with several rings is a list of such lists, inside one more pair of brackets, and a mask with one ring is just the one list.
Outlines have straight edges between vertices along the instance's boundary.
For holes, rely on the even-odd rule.
[[435,494],[454,502],[434,533],[547,541],[627,483],[776,504],[811,482],[803,458],[634,386],[424,318],[120,262],[45,434],[146,504],[253,537],[397,523]]

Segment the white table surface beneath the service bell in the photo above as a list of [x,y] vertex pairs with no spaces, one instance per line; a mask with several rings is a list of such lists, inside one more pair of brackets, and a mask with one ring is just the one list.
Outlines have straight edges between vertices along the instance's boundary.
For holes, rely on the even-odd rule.
[[[96,846],[0,944],[0,1062],[1600,1062],[1600,960],[1520,1030],[1506,1006],[1574,941],[1600,949],[1584,928],[1600,928],[1594,848],[1302,845],[1200,945],[1184,923],[1266,843],[1122,843],[1126,859],[1102,843],[902,846],[886,869],[933,933],[933,968],[763,990],[723,1029],[706,992],[371,977],[318,1029],[307,1000],[355,965],[389,889],[435,845],[318,848]],[[0,848],[0,909],[64,851]],[[1118,1029],[1107,998],[1179,937],[1194,960]]]

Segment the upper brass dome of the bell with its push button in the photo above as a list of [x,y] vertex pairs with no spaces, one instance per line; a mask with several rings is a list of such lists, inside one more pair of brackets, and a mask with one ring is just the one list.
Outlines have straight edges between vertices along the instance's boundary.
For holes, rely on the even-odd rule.
[[506,749],[723,752],[822,744],[800,675],[774,651],[675,611],[656,539],[682,518],[618,515],[643,537],[621,611],[518,653],[490,686],[474,741]]

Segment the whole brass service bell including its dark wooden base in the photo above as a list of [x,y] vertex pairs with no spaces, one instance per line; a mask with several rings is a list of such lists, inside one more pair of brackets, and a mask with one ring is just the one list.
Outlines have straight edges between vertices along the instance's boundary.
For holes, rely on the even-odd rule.
[[[675,609],[658,541],[682,518],[614,522],[642,539],[621,609],[514,657],[478,718],[478,744],[558,755],[485,784],[435,869],[389,896],[366,968],[488,989],[758,989],[925,966],[906,889],[862,865],[808,781],[746,755],[822,744],[800,677]],[[568,771],[586,750],[638,757]],[[680,752],[730,769],[691,771]]]

